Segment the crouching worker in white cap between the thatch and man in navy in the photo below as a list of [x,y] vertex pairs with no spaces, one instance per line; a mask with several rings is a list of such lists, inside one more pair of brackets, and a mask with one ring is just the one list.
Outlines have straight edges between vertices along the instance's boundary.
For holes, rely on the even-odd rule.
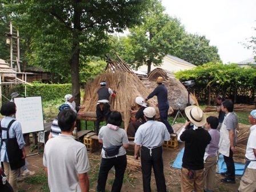
[[[142,97],[136,97],[135,102],[137,103],[139,109],[136,111],[130,110],[131,114],[135,113],[135,117],[131,117],[131,122],[127,128],[127,135],[130,137],[134,137],[138,127],[146,122],[143,110],[147,107],[147,104],[144,102]],[[141,119],[141,121],[138,121],[138,119]]]

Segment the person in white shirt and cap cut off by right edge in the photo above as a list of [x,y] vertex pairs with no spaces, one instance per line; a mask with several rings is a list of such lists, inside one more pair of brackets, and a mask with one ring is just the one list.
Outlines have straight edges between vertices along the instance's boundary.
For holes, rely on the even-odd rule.
[[251,126],[250,136],[246,147],[246,163],[245,170],[240,181],[238,191],[255,191],[256,189],[256,109],[251,111],[249,115],[249,123]]

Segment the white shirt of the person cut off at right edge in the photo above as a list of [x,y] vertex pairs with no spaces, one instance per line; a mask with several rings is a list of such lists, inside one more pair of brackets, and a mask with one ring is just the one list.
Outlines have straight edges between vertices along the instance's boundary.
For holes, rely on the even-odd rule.
[[[250,160],[256,160],[253,149],[256,149],[256,125],[251,126],[251,133],[248,138],[245,157]],[[251,161],[248,165],[250,169],[256,169],[256,161]]]

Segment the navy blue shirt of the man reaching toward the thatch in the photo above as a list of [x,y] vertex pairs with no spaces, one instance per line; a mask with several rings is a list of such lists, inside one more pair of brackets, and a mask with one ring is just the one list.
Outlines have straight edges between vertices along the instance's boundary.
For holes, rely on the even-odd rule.
[[147,96],[147,99],[150,99],[155,95],[157,96],[158,109],[169,109],[170,106],[167,98],[167,89],[163,84],[155,87],[154,91]]

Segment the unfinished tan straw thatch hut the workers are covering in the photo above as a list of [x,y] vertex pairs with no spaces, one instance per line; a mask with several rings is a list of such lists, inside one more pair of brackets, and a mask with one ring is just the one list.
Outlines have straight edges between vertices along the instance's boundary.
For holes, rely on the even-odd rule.
[[[139,78],[129,71],[115,71],[115,73],[103,73],[98,75],[97,78],[93,79],[90,83],[87,83],[85,87],[85,95],[83,96],[83,106],[85,109],[80,110],[88,114],[88,112],[96,112],[96,106],[98,102],[97,91],[101,87],[100,82],[106,81],[107,87],[110,87],[112,90],[117,91],[116,97],[110,97],[109,103],[111,106],[111,111],[117,110],[120,111],[123,115],[123,121],[125,122],[125,130],[129,125],[130,121],[130,109],[137,110],[137,104],[135,103],[135,98],[141,96],[146,98],[151,91],[143,85]],[[149,106],[155,107],[157,105],[157,97],[151,98],[147,101]],[[159,111],[157,110],[156,118],[159,118]],[[78,117],[81,120],[95,121],[95,115],[87,115],[87,117]]]

